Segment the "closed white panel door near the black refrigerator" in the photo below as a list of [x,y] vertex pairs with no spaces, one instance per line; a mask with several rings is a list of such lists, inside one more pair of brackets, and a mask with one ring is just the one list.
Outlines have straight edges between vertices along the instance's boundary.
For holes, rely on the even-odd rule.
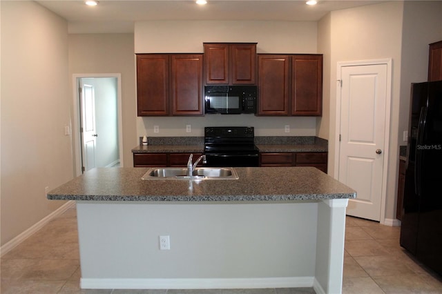
[[357,192],[356,199],[349,200],[347,215],[376,221],[381,220],[385,195],[387,72],[385,63],[340,68],[338,179]]

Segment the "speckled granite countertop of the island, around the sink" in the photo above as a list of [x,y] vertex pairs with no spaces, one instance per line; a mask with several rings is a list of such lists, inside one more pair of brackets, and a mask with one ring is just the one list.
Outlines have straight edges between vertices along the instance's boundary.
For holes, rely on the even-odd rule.
[[51,190],[48,199],[137,202],[275,202],[355,198],[313,167],[235,168],[239,179],[143,180],[148,168],[94,168]]

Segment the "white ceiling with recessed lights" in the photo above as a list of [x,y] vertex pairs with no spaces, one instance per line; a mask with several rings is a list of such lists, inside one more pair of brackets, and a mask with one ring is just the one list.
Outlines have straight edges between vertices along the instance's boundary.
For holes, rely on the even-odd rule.
[[318,21],[332,10],[384,2],[318,0],[316,6],[307,6],[305,1],[208,0],[198,6],[193,0],[100,0],[89,7],[83,0],[37,0],[66,19],[70,33],[133,32],[136,21]]

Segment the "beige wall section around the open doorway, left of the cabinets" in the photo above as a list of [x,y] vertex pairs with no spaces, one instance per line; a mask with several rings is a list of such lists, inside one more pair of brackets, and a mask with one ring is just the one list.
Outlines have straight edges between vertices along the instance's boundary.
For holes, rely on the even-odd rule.
[[[69,35],[70,81],[74,74],[121,74],[124,166],[133,166],[131,150],[139,144],[135,120],[137,94],[133,52],[133,34]],[[70,93],[75,92],[72,84],[70,87]],[[75,135],[75,131],[73,134]]]

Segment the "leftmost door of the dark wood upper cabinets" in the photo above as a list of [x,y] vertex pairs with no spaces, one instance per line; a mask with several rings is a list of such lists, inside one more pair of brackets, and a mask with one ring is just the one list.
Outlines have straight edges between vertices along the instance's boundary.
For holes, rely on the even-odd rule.
[[137,115],[169,115],[168,55],[137,55]]

